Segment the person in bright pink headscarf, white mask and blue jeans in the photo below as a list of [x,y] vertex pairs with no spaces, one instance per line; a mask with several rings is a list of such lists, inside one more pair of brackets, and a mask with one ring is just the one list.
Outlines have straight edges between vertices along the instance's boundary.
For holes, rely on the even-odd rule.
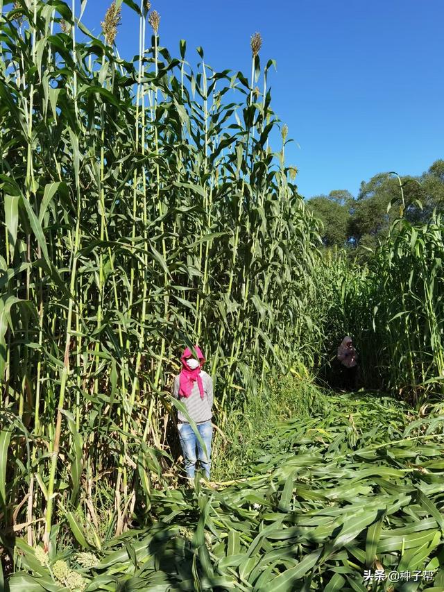
[[[196,462],[205,471],[207,478],[210,478],[211,468],[211,441],[212,428],[212,406],[213,406],[213,381],[209,374],[203,371],[205,358],[198,346],[194,346],[194,353],[187,348],[180,361],[182,371],[174,379],[173,395],[180,399],[187,409],[189,417],[196,422],[205,450],[198,441],[196,434],[189,424],[188,418],[178,412],[178,432],[180,446],[185,458],[185,470],[189,479],[194,478]],[[196,456],[196,447],[198,454]]]

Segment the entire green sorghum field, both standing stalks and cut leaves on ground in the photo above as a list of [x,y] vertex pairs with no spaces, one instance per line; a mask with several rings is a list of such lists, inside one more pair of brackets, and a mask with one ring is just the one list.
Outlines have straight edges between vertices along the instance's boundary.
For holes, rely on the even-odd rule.
[[[121,0],[100,37],[86,0],[0,0],[0,587],[442,591],[440,214],[404,219],[400,179],[366,264],[322,251],[260,35],[248,75],[218,72],[124,3],[131,62]],[[347,333],[366,389],[335,394]],[[194,343],[216,428],[190,489]]]

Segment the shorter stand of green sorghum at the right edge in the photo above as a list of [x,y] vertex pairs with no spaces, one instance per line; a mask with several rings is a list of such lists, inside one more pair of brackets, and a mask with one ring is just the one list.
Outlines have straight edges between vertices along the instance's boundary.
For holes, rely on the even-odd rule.
[[401,217],[367,264],[350,266],[341,255],[323,264],[330,360],[341,337],[353,335],[362,382],[415,404],[443,396],[443,239],[440,214],[416,226]]

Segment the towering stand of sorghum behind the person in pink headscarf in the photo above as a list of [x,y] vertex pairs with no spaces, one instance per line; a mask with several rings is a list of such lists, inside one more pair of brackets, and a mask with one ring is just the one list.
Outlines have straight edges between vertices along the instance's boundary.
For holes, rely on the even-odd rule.
[[[0,515],[3,543],[101,546],[126,530],[169,460],[184,344],[211,361],[219,418],[270,364],[314,357],[316,221],[271,109],[258,37],[251,80],[192,69],[140,19],[119,58],[121,1],[94,37],[74,0],[1,8]],[[151,42],[146,28],[152,28]],[[83,40],[79,41],[80,35]],[[255,90],[264,77],[263,93]],[[266,360],[269,360],[267,362]]]

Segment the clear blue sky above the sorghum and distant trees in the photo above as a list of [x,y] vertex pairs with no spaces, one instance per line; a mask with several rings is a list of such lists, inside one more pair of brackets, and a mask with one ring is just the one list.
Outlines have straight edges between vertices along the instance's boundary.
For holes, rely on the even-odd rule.
[[[87,4],[83,22],[96,34],[109,4]],[[152,0],[152,8],[173,56],[183,38],[191,64],[203,46],[216,70],[249,76],[250,35],[261,33],[262,64],[278,65],[272,107],[295,140],[286,160],[303,196],[356,195],[378,172],[421,174],[444,158],[443,0]],[[130,58],[137,16],[123,6],[122,17],[117,46]]]

